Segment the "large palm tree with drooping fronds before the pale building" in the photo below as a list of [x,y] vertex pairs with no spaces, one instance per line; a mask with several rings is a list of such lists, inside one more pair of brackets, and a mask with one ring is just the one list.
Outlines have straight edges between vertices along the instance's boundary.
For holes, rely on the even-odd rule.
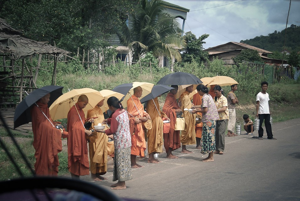
[[162,5],[161,0],[143,0],[142,10],[130,16],[129,26],[124,26],[122,33],[118,33],[121,42],[133,52],[133,62],[150,51],[155,57],[174,57],[181,61],[178,49],[186,43],[180,25]]

